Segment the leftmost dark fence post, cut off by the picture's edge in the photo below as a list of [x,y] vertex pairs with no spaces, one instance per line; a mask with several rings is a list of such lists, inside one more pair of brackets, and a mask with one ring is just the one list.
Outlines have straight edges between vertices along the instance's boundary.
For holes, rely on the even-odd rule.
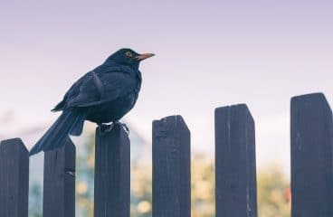
[[0,143],[0,216],[27,217],[29,152],[19,138]]

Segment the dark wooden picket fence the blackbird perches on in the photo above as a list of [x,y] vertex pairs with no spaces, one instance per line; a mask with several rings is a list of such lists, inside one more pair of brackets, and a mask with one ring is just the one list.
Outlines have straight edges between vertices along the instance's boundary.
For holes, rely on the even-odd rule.
[[[96,130],[95,217],[129,216],[129,139]],[[153,216],[191,214],[190,131],[180,116],[153,122]],[[291,99],[292,217],[333,216],[333,123],[323,94]],[[280,153],[282,155],[282,153]],[[28,151],[0,144],[0,216],[28,216]],[[44,156],[44,217],[75,216],[75,146]],[[215,109],[217,217],[257,216],[254,121],[246,105]]]

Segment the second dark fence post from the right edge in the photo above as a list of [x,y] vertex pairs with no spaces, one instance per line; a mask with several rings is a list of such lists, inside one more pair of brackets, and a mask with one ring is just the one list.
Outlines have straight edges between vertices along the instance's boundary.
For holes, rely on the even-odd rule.
[[254,121],[246,105],[215,109],[216,217],[257,216]]

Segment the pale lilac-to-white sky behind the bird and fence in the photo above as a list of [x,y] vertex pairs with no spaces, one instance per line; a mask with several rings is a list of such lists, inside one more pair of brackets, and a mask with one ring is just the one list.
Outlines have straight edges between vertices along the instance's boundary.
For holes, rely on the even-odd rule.
[[288,169],[290,98],[320,91],[333,105],[332,11],[320,0],[2,1],[0,130],[51,125],[71,83],[129,47],[157,54],[126,117],[144,137],[153,119],[180,114],[192,150],[213,157],[214,108],[246,103],[257,164]]

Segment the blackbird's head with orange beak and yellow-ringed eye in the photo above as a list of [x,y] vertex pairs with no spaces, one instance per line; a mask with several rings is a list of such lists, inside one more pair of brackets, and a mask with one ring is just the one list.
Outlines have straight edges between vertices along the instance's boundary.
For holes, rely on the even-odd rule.
[[109,56],[107,61],[115,61],[121,65],[128,65],[135,69],[138,69],[140,61],[146,60],[149,57],[154,56],[153,53],[142,53],[134,52],[131,49],[123,48],[118,52],[114,52]]

